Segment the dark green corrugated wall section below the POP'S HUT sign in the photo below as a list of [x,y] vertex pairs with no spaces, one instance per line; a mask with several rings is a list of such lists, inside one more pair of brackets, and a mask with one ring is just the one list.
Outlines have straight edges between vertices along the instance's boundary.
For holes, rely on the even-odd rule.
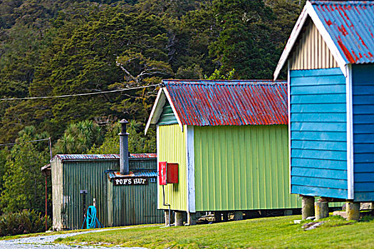
[[[157,181],[147,185],[113,186],[108,181],[109,226],[162,223],[164,212],[157,210]],[[136,198],[135,198],[136,197]]]

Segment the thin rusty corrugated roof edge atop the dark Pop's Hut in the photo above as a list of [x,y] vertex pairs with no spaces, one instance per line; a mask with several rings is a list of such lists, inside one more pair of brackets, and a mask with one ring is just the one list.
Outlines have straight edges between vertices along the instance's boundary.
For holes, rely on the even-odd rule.
[[[61,161],[66,160],[112,160],[120,159],[119,154],[58,154],[53,159],[58,158]],[[129,159],[154,159],[155,153],[130,154]]]

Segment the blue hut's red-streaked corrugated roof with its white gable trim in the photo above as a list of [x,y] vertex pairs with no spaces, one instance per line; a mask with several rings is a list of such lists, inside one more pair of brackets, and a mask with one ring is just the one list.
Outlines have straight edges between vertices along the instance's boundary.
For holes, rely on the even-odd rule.
[[374,63],[374,1],[307,1],[276,65],[274,79],[286,65],[309,17],[345,76],[347,64]]

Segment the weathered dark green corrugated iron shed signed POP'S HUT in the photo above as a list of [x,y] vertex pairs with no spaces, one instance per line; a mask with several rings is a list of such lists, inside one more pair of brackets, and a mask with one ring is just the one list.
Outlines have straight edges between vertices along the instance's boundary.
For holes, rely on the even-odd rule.
[[[130,171],[156,169],[155,154],[129,159]],[[118,155],[57,155],[51,161],[53,229],[79,229],[83,224],[82,195],[86,204],[96,201],[98,219],[104,226],[161,223],[157,211],[157,184],[113,186],[107,172],[119,169]]]

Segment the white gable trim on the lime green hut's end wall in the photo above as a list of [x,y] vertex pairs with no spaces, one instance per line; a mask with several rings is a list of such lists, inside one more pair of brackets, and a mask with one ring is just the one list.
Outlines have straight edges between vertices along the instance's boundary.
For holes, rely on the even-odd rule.
[[180,129],[182,129],[183,132],[183,124],[180,121],[180,117],[178,116],[177,111],[175,110],[169,92],[167,92],[166,88],[160,88],[157,93],[155,104],[153,105],[152,111],[150,112],[150,117],[148,118],[147,125],[145,126],[144,134],[147,134],[147,131],[150,128],[151,124],[157,124],[158,120],[160,119],[160,115],[162,114],[162,108],[164,107],[166,100],[169,101],[170,106],[172,107],[172,112],[174,113],[178,124],[180,124]]

